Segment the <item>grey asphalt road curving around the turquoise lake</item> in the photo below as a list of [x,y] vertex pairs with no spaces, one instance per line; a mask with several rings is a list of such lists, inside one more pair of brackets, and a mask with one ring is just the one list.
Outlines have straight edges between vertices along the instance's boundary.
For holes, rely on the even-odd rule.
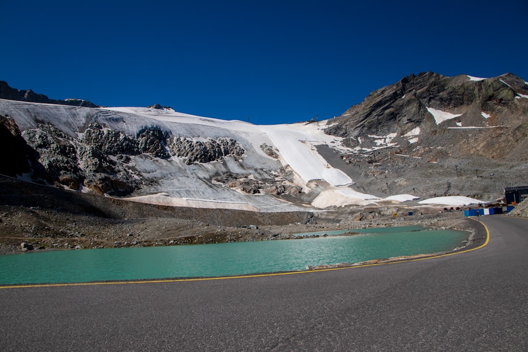
[[[3,351],[527,351],[528,220],[481,249],[208,281],[0,289]],[[485,235],[485,230],[480,232]]]

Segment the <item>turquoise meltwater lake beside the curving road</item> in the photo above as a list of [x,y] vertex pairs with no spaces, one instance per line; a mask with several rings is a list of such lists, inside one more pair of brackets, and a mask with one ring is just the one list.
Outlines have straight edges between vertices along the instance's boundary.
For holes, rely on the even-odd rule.
[[[347,231],[355,235],[339,235]],[[309,265],[357,263],[436,253],[463,246],[469,233],[421,226],[324,231],[300,240],[144,248],[24,252],[0,255],[0,284],[66,283],[305,270]]]

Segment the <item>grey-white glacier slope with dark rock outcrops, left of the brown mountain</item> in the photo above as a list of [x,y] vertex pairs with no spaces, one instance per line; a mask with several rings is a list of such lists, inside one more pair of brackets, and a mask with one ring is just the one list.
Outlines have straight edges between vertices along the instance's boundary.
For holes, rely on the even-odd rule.
[[0,115],[39,153],[24,177],[84,192],[275,212],[306,210],[321,187],[354,183],[317,153],[341,139],[324,134],[325,122],[259,126],[172,109],[12,100],[0,100]]

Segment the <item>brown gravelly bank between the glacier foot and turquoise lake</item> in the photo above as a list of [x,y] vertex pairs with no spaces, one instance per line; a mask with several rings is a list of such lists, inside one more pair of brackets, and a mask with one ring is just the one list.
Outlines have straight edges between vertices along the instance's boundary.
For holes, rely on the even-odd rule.
[[298,239],[299,233],[411,224],[469,232],[476,226],[462,211],[442,207],[394,205],[315,213],[168,207],[0,176],[0,254]]

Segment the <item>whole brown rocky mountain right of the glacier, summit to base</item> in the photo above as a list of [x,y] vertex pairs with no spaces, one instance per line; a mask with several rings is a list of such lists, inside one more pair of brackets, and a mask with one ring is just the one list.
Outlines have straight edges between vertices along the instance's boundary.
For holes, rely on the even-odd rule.
[[373,194],[491,201],[528,184],[528,84],[511,73],[410,75],[329,120],[325,132],[354,150],[337,151],[348,167],[334,163]]

